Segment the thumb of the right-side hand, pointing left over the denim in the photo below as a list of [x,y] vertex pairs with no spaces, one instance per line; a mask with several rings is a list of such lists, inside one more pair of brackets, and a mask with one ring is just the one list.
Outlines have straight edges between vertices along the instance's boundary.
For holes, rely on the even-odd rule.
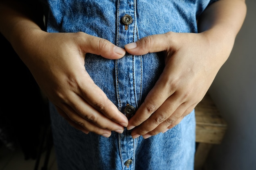
[[156,34],[143,37],[137,42],[126,44],[124,48],[132,55],[144,55],[149,52],[167,50],[168,38],[166,34]]

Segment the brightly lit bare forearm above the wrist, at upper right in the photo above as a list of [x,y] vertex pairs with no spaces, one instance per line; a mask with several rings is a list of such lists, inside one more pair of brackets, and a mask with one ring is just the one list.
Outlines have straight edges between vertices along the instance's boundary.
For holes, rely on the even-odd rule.
[[245,0],[219,0],[211,4],[198,19],[198,32],[207,36],[211,47],[222,52],[220,63],[229,57],[236,35],[246,15]]

